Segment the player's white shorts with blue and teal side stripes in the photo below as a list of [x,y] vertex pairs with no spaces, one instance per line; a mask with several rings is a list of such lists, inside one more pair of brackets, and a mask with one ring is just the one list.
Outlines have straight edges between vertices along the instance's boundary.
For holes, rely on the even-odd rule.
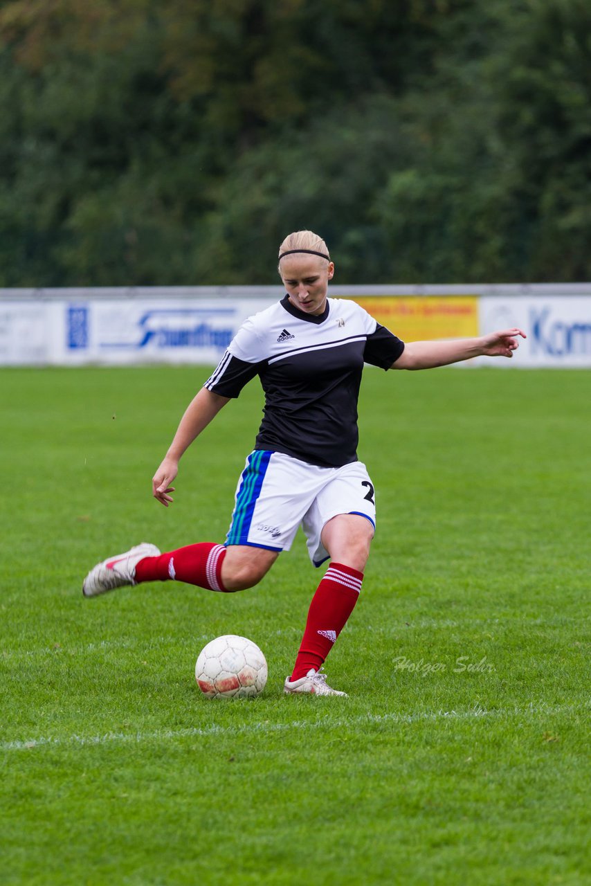
[[301,525],[315,566],[329,558],[321,533],[338,514],[376,527],[374,487],[362,462],[320,468],[280,452],[255,450],[238,480],[226,545],[289,550]]

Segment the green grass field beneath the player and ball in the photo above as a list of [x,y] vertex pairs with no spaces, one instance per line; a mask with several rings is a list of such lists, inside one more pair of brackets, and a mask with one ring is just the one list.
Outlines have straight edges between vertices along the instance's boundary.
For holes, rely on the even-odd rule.
[[[82,598],[138,541],[225,537],[256,384],[151,496],[207,375],[0,371],[0,882],[590,882],[589,373],[366,371],[377,537],[326,665],[348,699],[282,693],[303,536],[241,594]],[[221,633],[265,651],[258,699],[200,696]]]

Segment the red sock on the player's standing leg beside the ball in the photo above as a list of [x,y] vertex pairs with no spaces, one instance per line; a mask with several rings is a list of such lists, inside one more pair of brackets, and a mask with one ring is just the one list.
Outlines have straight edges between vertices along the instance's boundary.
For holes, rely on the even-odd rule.
[[318,671],[338,634],[346,626],[362,589],[363,573],[342,563],[330,563],[307,612],[306,630],[293,666],[292,680]]

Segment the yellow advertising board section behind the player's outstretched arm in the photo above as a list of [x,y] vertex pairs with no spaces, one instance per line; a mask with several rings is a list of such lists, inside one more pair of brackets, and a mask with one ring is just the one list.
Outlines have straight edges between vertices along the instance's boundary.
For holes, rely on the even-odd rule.
[[362,295],[354,301],[403,341],[478,335],[477,295]]

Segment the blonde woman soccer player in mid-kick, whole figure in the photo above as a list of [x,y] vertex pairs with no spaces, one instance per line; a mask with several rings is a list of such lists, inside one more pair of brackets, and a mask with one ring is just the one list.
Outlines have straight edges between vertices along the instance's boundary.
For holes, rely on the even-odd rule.
[[253,587],[288,550],[299,525],[312,563],[330,565],[315,591],[286,693],[344,696],[321,666],[354,609],[376,527],[374,487],[357,459],[363,363],[430,369],[478,355],[511,357],[518,329],[454,341],[404,344],[362,307],[328,299],[334,264],[321,237],[290,234],[279,249],[286,295],[249,317],[184,413],[152,479],[165,507],[184,451],[244,385],[259,376],[264,417],[238,480],[223,545],[205,541],[160,554],[141,544],[98,563],[84,580],[92,597],[115,587],[176,579],[214,591]]

